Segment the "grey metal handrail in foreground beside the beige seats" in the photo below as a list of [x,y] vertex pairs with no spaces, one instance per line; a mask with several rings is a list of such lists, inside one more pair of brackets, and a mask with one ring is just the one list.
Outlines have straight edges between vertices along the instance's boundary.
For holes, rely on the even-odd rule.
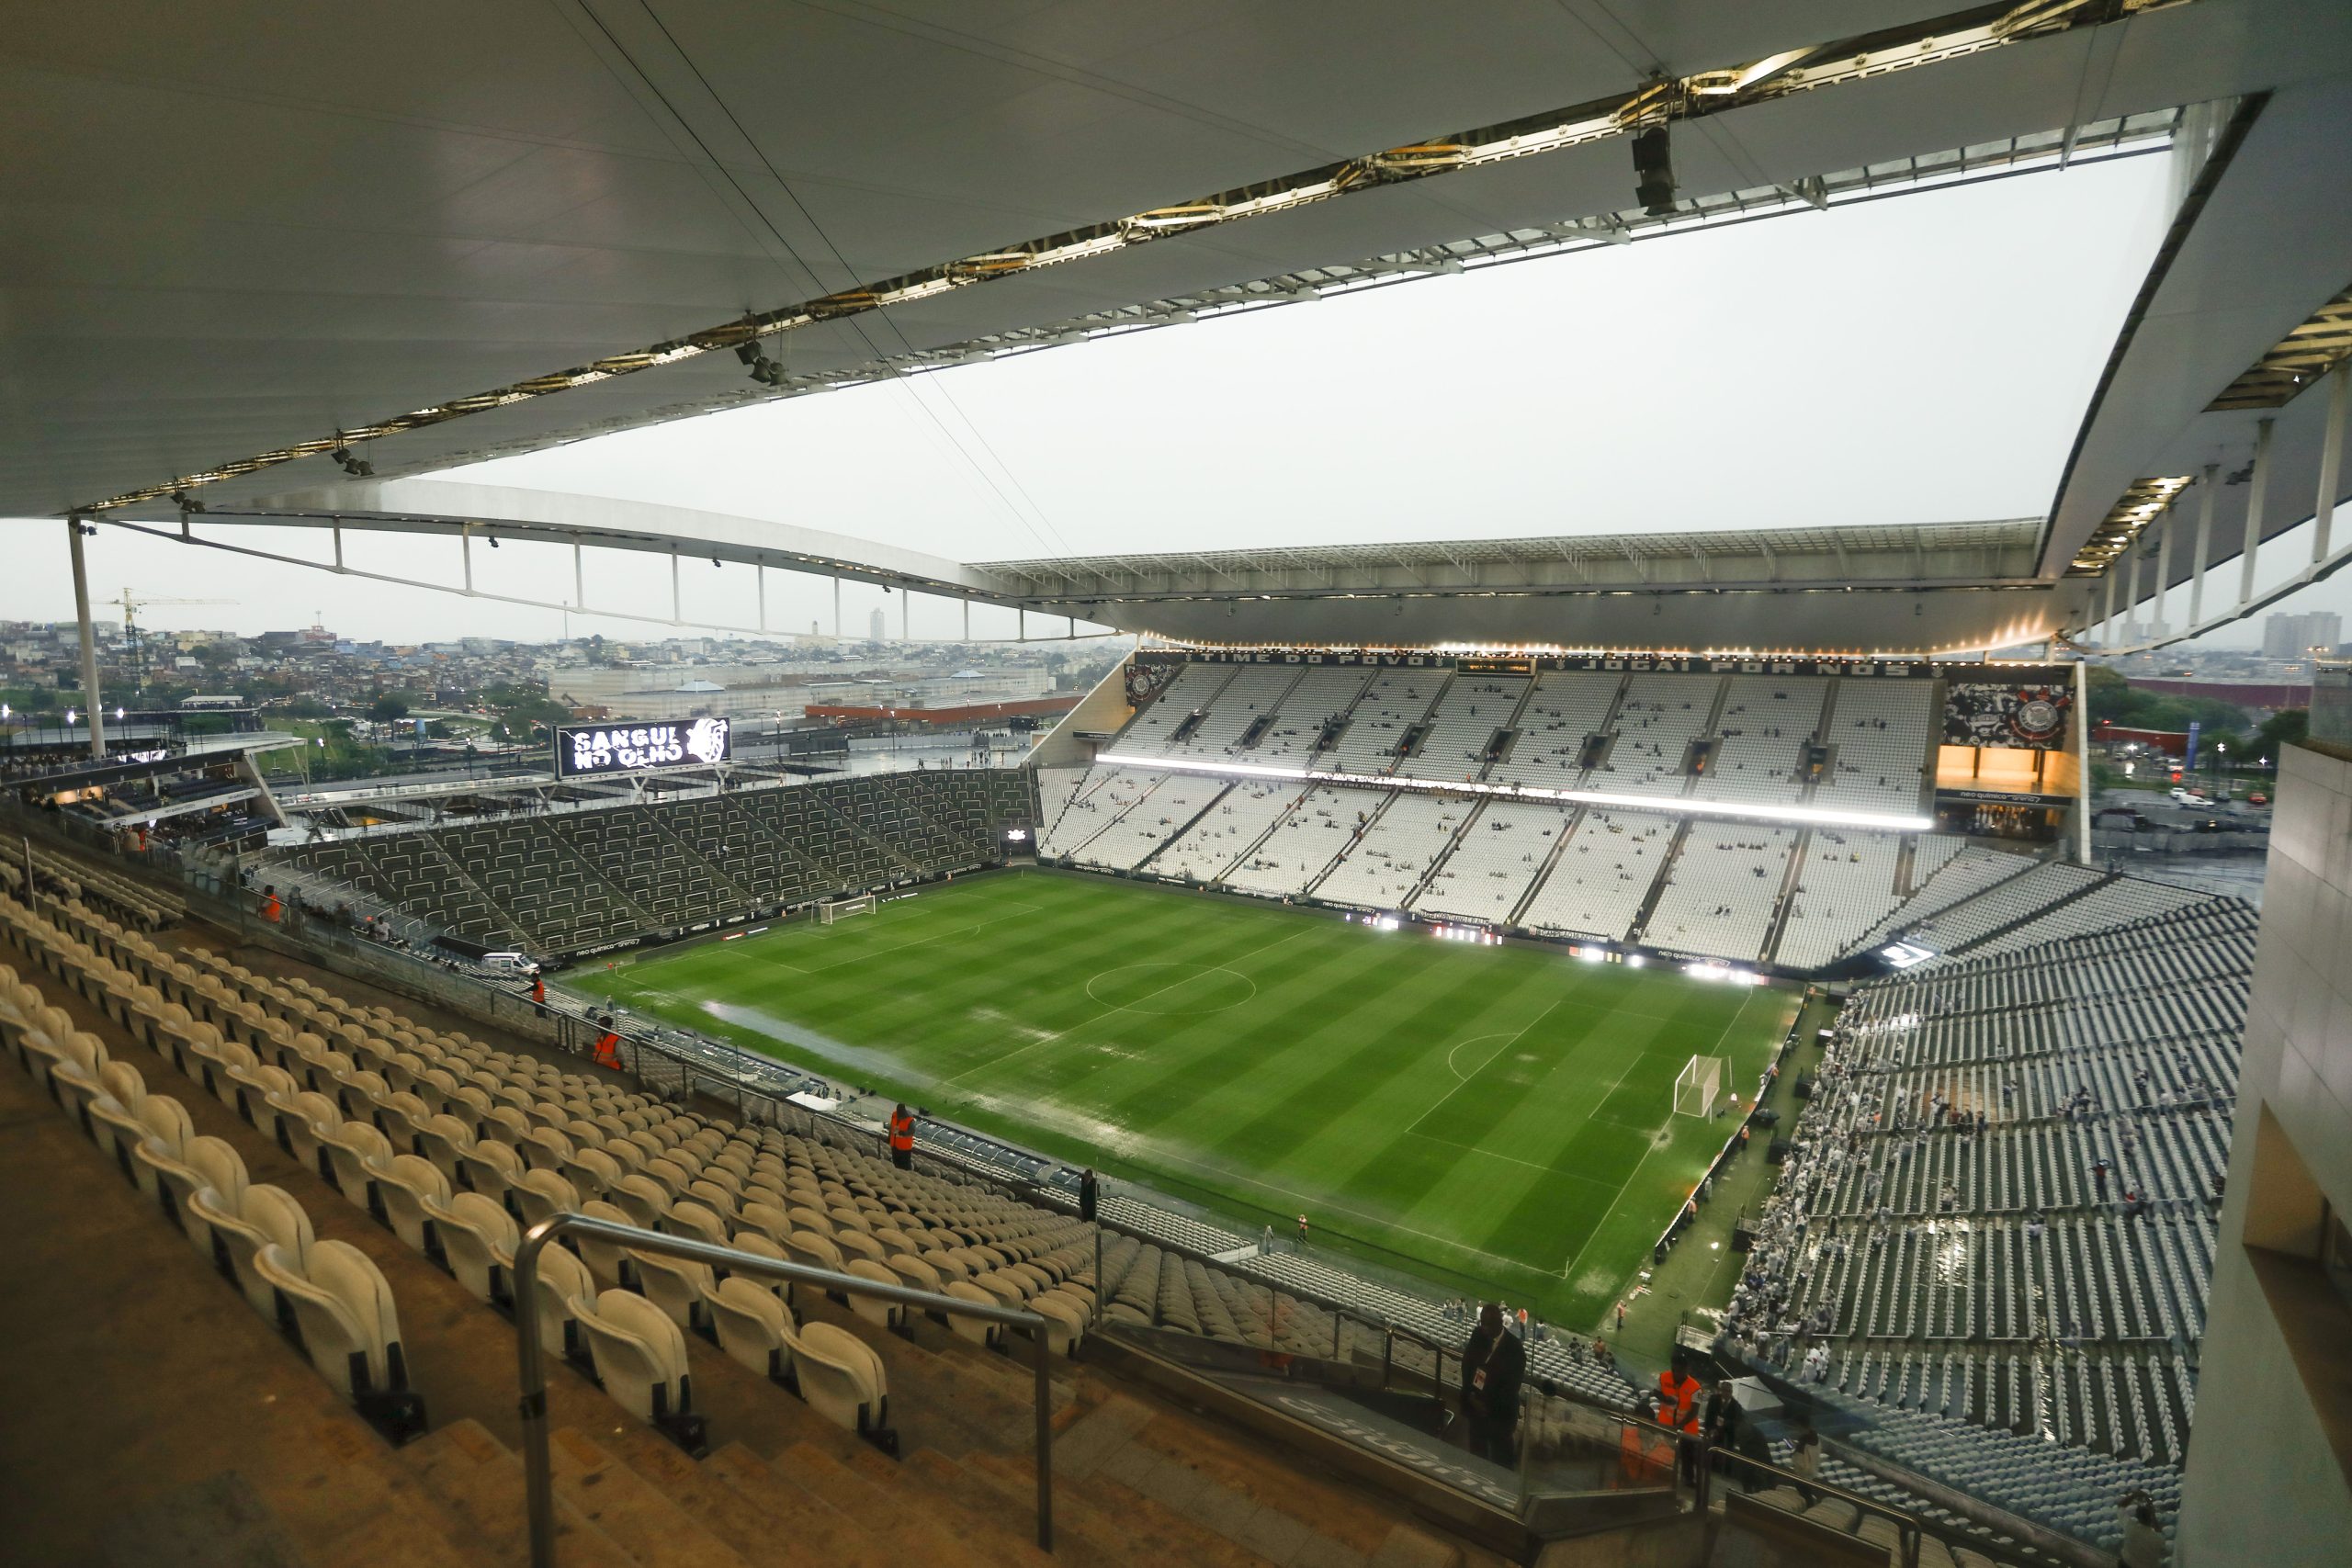
[[1018,1307],[1000,1307],[995,1302],[967,1302],[934,1291],[917,1291],[913,1286],[858,1279],[856,1274],[835,1274],[833,1269],[818,1269],[804,1262],[783,1262],[776,1258],[760,1258],[757,1253],[739,1253],[736,1248],[717,1246],[715,1241],[666,1237],[659,1229],[640,1229],[635,1225],[619,1225],[614,1220],[597,1220],[583,1213],[557,1211],[522,1232],[522,1244],[515,1248],[515,1356],[522,1373],[522,1479],[532,1514],[532,1568],[555,1568],[555,1479],[548,1467],[548,1373],[541,1361],[539,1309],[534,1302],[539,1300],[539,1253],[562,1232],[602,1237],[621,1246],[633,1246],[640,1253],[691,1258],[694,1262],[708,1262],[731,1274],[764,1274],[769,1279],[821,1286],[847,1295],[873,1295],[903,1307],[922,1307],[924,1312],[948,1312],[955,1316],[976,1316],[988,1324],[1028,1328],[1035,1352],[1033,1361],[1037,1368],[1037,1549],[1054,1549],[1054,1392],[1049,1380],[1051,1345],[1047,1338],[1044,1314],[1023,1312]]

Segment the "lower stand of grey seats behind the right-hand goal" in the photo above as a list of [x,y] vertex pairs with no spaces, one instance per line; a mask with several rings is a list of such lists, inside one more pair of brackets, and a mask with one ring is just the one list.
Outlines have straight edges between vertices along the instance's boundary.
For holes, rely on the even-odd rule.
[[1858,1448],[2110,1552],[2114,1495],[2180,1495],[2253,966],[2246,905],[2173,893],[1858,987],[1724,1335]]

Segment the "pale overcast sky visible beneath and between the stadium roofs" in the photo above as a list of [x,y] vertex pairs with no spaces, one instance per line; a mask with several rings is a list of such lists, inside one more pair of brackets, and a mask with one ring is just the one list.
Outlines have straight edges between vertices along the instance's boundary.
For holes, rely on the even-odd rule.
[[[2136,158],[1538,259],[445,477],[800,522],[957,559],[2039,517],[2161,230],[2164,183],[2166,160]],[[71,616],[64,538],[19,538],[0,616]],[[306,548],[285,531],[256,543]],[[261,632],[313,614],[395,642],[564,628],[555,611],[111,529],[89,555],[101,597],[129,585],[238,599],[158,607],[158,628]],[[449,543],[379,541],[348,559],[456,578]],[[475,552],[485,588],[564,597],[569,578],[569,552],[553,548]],[[644,597],[642,557],[590,567],[590,604],[628,597]],[[656,599],[666,611],[666,583]],[[875,604],[877,590],[844,590],[854,635]],[[750,623],[750,571],[689,569],[687,611]],[[913,632],[955,635],[960,614],[917,599]],[[830,583],[769,576],[769,625],[830,621]],[[974,632],[1009,621],[974,611]],[[894,597],[894,635],[898,623]],[[597,616],[569,630],[666,635]]]

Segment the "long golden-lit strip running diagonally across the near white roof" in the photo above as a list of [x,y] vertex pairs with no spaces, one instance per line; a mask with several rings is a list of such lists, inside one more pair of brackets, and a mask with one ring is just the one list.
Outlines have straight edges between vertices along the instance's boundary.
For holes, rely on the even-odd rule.
[[924,301],[950,289],[995,282],[997,277],[1014,277],[1018,273],[1033,273],[1049,266],[1112,256],[1131,244],[1148,244],[1169,235],[1190,235],[1244,219],[1296,212],[1338,195],[1378,190],[1399,181],[1437,179],[1456,169],[1479,169],[1515,158],[1536,158],[1541,153],[1590,146],[1616,136],[1635,136],[1675,120],[1700,120],[1705,115],[1766,103],[1799,92],[1865,82],[1919,66],[1940,66],[2013,42],[2049,38],[2077,28],[2096,28],[2138,16],[2143,12],[2194,2],[2197,0],[2025,0],[2023,5],[2011,7],[1971,7],[1917,21],[1905,28],[1870,33],[1865,38],[1804,49],[1783,49],[1729,71],[1700,71],[1689,78],[1653,78],[1623,96],[1595,99],[1590,103],[1576,103],[1475,132],[1430,136],[1409,146],[1364,153],[1359,158],[1322,165],[1317,169],[1305,169],[1235,190],[1221,190],[1190,202],[1155,207],[1150,212],[1091,223],[1061,235],[1044,235],[1040,240],[1000,247],[978,256],[960,256],[917,273],[842,289],[837,294],[826,294],[795,306],[750,313],[741,320],[720,322],[649,348],[607,355],[572,369],[532,376],[513,386],[454,397],[449,402],[395,414],[369,425],[339,430],[334,437],[296,442],[292,447],[278,447],[249,458],[221,463],[219,468],[179,475],[162,484],[148,484],[120,496],[108,496],[106,501],[78,505],[73,512],[89,515],[139,501],[179,496],[202,484],[327,454],[336,447],[423,430],[468,414],[482,414],[527,402],[532,397],[595,386],[600,381],[628,376],[640,369],[654,369],[659,364],[677,364],[706,353],[743,348],[771,334],[797,331],[816,322],[863,315],[868,310],[887,310],[889,306]]

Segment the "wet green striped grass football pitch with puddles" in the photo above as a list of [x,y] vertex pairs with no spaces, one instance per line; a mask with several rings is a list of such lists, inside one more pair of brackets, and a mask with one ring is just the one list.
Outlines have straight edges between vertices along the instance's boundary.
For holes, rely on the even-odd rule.
[[1249,1229],[1381,1251],[1599,1319],[1729,1124],[1788,992],[1566,950],[1374,931],[1150,884],[1011,872],[833,926],[583,971],[576,990],[870,1084]]

